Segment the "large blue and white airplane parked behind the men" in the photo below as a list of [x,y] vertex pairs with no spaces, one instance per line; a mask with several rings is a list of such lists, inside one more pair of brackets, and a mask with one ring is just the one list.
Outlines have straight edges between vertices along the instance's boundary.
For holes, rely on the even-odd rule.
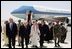
[[[37,20],[40,18],[53,19],[53,18],[57,18],[56,16],[71,18],[70,11],[41,8],[40,6],[38,6],[38,8],[39,8],[39,10],[36,9],[35,6],[21,6],[18,9],[15,9],[14,11],[12,11],[11,14],[13,16],[21,18],[21,19],[27,19],[28,12],[32,11],[32,20]],[[46,9],[46,10],[44,10],[44,9]],[[40,10],[43,10],[43,11],[40,11]]]

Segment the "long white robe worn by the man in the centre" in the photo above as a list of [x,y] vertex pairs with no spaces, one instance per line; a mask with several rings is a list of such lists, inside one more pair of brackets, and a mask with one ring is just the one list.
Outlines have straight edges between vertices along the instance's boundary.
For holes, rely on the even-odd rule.
[[38,45],[38,42],[40,40],[40,31],[39,28],[37,28],[37,26],[32,25],[31,27],[31,34],[30,34],[30,41],[32,45]]

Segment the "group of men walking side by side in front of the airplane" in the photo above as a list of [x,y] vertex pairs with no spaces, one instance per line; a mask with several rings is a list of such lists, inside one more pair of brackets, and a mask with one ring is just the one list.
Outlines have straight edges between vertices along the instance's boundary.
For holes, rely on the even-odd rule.
[[[29,44],[32,44],[32,47],[38,48],[38,43],[40,43],[40,48],[43,47],[44,41],[50,42],[50,40],[55,41],[55,47],[60,46],[59,42],[64,43],[66,39],[67,30],[63,23],[59,24],[59,21],[56,24],[52,23],[52,26],[49,28],[45,24],[44,20],[41,23],[33,21],[32,24],[28,22],[21,23],[21,20],[18,21],[18,25],[13,21],[12,18],[9,19],[9,22],[6,24],[6,36],[8,38],[9,48],[15,48],[16,37],[18,36],[19,46],[24,48],[24,39],[26,48]],[[58,42],[56,42],[58,39]]]

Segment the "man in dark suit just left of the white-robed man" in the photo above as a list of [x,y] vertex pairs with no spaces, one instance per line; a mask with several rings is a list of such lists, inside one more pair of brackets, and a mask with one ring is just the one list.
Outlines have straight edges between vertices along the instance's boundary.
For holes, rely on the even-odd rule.
[[19,35],[21,36],[22,48],[24,48],[24,39],[26,48],[28,48],[30,29],[31,27],[28,23],[24,23],[22,26],[20,26]]

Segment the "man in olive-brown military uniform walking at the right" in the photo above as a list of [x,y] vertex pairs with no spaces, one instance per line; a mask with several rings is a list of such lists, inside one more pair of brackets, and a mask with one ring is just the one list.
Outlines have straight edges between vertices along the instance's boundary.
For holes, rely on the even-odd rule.
[[[60,28],[60,25],[59,25],[59,21],[56,21],[56,25],[54,25],[53,27],[53,37],[54,37],[54,41],[55,41],[55,47],[57,46],[60,46],[59,45],[59,42],[60,42],[60,39],[61,39],[61,28]],[[58,41],[57,41],[58,39]]]

